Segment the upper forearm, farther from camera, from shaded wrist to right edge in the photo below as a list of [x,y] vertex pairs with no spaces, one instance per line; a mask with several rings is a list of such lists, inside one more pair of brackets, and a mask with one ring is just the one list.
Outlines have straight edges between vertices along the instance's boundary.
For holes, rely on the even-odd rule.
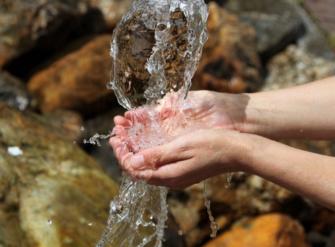
[[246,96],[236,121],[242,132],[270,139],[335,140],[335,77],[236,97],[245,102]]

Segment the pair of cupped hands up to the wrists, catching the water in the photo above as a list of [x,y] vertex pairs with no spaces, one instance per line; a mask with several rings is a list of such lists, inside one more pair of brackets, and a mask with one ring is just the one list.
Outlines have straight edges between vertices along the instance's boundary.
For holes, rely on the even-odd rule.
[[[182,190],[209,177],[227,172],[246,171],[243,152],[245,138],[241,115],[231,105],[230,94],[213,91],[190,91],[191,105],[186,117],[194,123],[205,123],[164,145],[136,154],[117,137],[110,139],[115,157],[122,170],[131,177],[145,179],[149,184]],[[116,116],[119,127],[131,126],[132,113]],[[201,126],[201,124],[199,124]]]

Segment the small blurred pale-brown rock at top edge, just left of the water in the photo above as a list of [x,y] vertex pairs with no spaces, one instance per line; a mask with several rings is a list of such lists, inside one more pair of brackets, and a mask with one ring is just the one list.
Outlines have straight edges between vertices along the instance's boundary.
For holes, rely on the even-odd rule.
[[90,0],[91,6],[99,8],[106,21],[107,28],[113,30],[117,22],[130,8],[133,0]]

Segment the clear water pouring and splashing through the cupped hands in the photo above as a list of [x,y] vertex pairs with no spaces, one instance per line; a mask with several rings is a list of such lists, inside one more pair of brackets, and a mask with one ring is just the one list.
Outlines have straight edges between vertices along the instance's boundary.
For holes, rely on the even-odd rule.
[[[189,107],[186,95],[208,37],[208,10],[203,0],[134,0],[113,32],[108,83],[120,105],[132,111],[132,126],[116,126],[109,135],[95,134],[85,142],[99,145],[98,138],[115,134],[137,153],[192,130],[184,109]],[[161,247],[167,188],[122,175],[120,195],[111,202],[96,247]],[[207,205],[209,210],[206,198]]]

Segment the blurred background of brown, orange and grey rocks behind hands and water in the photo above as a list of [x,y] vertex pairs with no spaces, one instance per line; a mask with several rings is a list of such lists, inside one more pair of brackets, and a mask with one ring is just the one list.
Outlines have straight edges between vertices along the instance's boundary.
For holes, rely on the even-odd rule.
[[[335,74],[334,0],[206,2],[192,90],[257,92]],[[83,140],[109,134],[124,113],[106,84],[112,31],[131,3],[0,0],[0,247],[100,240],[121,172],[108,140]],[[335,155],[329,141],[278,141]],[[202,184],[170,190],[164,246],[335,246],[335,212],[255,175],[225,184],[226,175],[207,182],[213,240]]]

